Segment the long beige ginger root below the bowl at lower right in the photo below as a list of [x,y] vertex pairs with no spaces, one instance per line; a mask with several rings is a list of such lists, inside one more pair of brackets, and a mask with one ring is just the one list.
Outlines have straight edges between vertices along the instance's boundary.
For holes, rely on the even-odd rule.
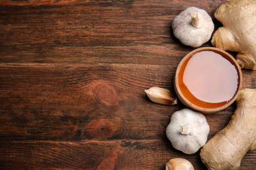
[[241,90],[228,125],[200,152],[208,169],[238,169],[244,155],[256,148],[256,89]]

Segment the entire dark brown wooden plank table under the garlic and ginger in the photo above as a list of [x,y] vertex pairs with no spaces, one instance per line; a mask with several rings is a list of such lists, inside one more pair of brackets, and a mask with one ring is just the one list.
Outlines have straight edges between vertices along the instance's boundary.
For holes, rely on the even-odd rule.
[[[224,2],[0,0],[0,169],[165,169],[171,158],[206,169],[165,135],[184,105],[152,103],[144,89],[174,92],[194,50],[173,36],[173,18],[196,6],[217,29]],[[256,88],[255,73],[243,70],[242,88]],[[208,140],[235,108],[205,114]],[[255,167],[247,152],[240,169]]]

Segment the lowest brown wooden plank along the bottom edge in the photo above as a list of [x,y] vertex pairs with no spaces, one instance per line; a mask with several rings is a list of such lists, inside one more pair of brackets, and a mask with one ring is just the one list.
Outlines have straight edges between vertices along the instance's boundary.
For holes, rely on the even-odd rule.
[[[185,155],[162,140],[0,142],[1,169],[164,169],[173,156],[206,169],[199,154]],[[255,168],[248,152],[240,170]]]

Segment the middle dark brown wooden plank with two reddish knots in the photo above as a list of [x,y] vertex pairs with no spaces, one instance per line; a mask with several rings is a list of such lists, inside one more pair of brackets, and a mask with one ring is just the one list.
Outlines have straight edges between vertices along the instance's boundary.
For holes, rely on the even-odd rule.
[[[152,103],[144,89],[160,86],[174,93],[175,69],[162,65],[3,64],[1,140],[163,139],[171,114],[184,106]],[[251,75],[244,80],[249,78]],[[249,80],[247,86],[255,86],[255,82]],[[211,136],[226,125],[234,107],[207,115]]]

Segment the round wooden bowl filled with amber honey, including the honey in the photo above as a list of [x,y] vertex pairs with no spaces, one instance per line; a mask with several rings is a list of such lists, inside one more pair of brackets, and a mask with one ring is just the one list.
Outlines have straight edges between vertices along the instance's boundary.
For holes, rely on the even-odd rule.
[[216,48],[198,48],[190,52],[182,59],[177,72],[175,90],[178,97],[186,106],[202,112],[228,107],[242,84],[236,60]]

